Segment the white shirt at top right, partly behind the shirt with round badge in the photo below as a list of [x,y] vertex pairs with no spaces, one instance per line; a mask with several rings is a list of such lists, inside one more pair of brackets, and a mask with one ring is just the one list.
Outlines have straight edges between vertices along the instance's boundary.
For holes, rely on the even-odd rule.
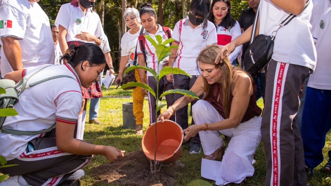
[[329,7],[331,7],[331,1],[330,0],[312,0],[313,8],[311,11],[311,18],[310,18],[310,24],[312,32],[317,24],[319,24],[319,18],[321,17],[322,13]]

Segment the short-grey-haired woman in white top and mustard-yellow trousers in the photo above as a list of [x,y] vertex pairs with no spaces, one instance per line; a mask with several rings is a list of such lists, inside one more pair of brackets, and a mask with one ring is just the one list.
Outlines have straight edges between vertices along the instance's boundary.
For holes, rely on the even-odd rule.
[[[137,41],[138,36],[144,31],[144,27],[140,25],[139,12],[135,8],[127,8],[124,11],[123,18],[126,25],[130,28],[121,39],[121,60],[119,62],[118,76],[116,84],[119,84],[123,79],[123,73],[127,65],[134,65],[134,59],[137,57]],[[138,64],[136,64],[138,65]],[[140,82],[138,69],[134,70],[134,77],[137,82]],[[145,94],[141,93],[140,87],[135,87],[132,90],[133,97],[133,115],[136,117],[135,134],[143,134],[143,118],[144,118],[144,98]]]

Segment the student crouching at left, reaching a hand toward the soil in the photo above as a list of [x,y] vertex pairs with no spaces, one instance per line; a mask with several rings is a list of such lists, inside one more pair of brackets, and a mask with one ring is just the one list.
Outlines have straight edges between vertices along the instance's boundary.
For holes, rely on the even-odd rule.
[[[6,117],[3,128],[40,131],[56,124],[50,132],[36,135],[0,132],[0,156],[5,157],[8,164],[18,164],[0,169],[1,173],[11,176],[0,186],[56,186],[72,179],[70,176],[75,172],[81,173],[75,175],[76,179],[82,176],[84,172],[77,170],[89,163],[94,154],[104,155],[109,161],[124,156],[125,151],[117,148],[93,145],[73,137],[82,102],[80,87],[88,87],[99,80],[99,73],[106,64],[102,50],[92,43],[71,45],[61,58],[63,60],[68,63],[31,67],[5,76],[16,82],[22,76],[31,77],[28,84],[56,75],[70,77],[39,83],[20,95],[20,101],[15,105],[20,114]],[[41,71],[31,76],[38,70]]]

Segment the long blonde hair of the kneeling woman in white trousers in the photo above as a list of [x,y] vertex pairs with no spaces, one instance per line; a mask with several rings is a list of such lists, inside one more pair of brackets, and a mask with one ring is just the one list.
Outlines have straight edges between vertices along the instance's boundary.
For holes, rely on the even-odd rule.
[[[232,94],[231,85],[234,81],[234,72],[243,71],[246,74],[248,74],[248,73],[244,70],[241,70],[241,69],[231,65],[228,57],[225,57],[218,64],[215,64],[214,62],[215,62],[216,56],[219,53],[219,51],[221,50],[221,48],[222,47],[220,47],[217,44],[207,45],[204,49],[201,50],[200,54],[198,55],[197,67],[199,68],[199,63],[204,63],[204,64],[215,65],[217,68],[219,68],[222,71],[222,76],[221,76],[220,82],[222,84],[222,92],[223,92],[223,110],[224,110],[225,116],[229,117],[229,115],[230,115],[229,101],[230,101],[230,95]],[[203,81],[204,81],[204,89],[206,92],[203,99],[206,99],[210,94],[212,85],[208,84],[206,78],[204,78],[204,77],[203,77]]]

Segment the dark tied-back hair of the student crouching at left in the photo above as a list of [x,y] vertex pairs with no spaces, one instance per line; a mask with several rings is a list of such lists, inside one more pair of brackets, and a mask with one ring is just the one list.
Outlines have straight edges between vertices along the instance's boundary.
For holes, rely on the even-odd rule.
[[88,61],[90,66],[101,65],[106,63],[105,54],[101,48],[94,43],[84,43],[82,45],[69,45],[66,53],[60,57],[61,64],[64,60],[76,67],[83,61]]

